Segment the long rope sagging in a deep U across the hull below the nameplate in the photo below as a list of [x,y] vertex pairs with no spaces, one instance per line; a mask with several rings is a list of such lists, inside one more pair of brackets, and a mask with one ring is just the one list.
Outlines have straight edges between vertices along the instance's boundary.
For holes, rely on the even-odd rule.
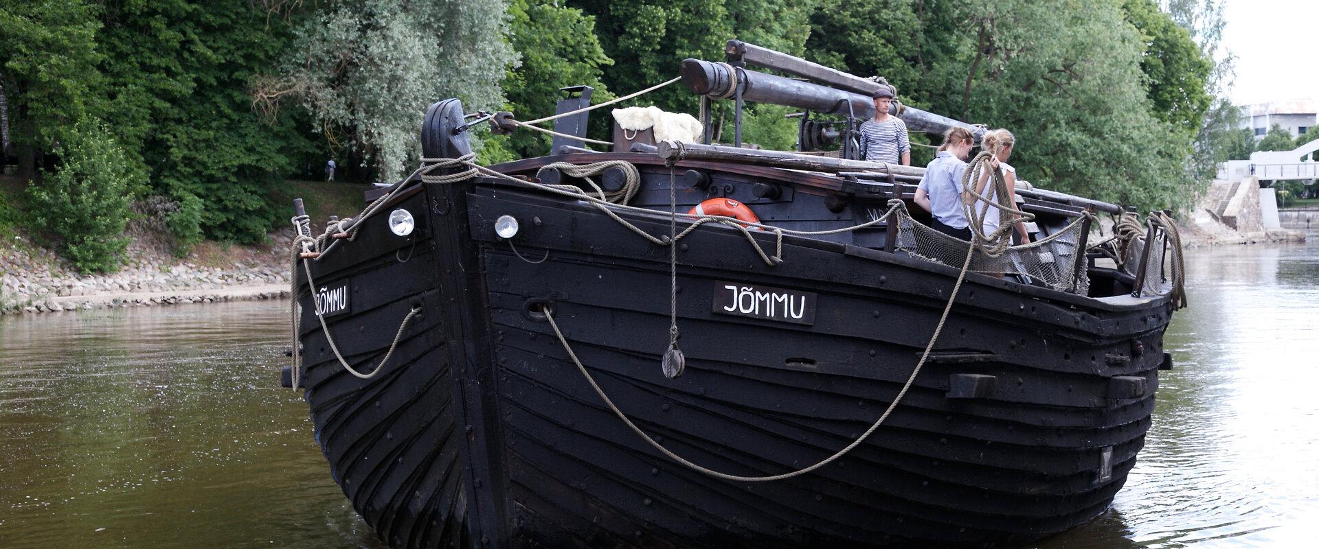
[[731,474],[727,474],[727,473],[720,473],[720,471],[716,471],[716,470],[707,469],[707,467],[703,467],[700,465],[692,463],[692,462],[685,459],[682,456],[678,456],[678,454],[670,452],[667,448],[663,448],[660,442],[656,442],[656,440],[652,438],[645,432],[642,432],[641,428],[637,427],[637,424],[632,423],[632,420],[628,419],[628,416],[625,413],[623,413],[623,411],[619,409],[617,405],[613,404],[613,400],[611,400],[609,396],[604,394],[604,390],[600,388],[600,384],[595,382],[595,378],[591,377],[591,373],[587,371],[586,366],[582,365],[582,361],[578,359],[576,353],[572,352],[572,346],[568,345],[567,338],[563,337],[563,332],[559,330],[559,325],[558,325],[558,323],[554,321],[554,315],[550,312],[550,309],[545,309],[545,319],[550,321],[550,328],[554,329],[554,334],[559,338],[559,344],[563,345],[563,350],[566,350],[568,353],[568,358],[571,358],[572,363],[576,365],[576,367],[578,367],[579,371],[582,371],[582,375],[586,377],[586,380],[588,383],[591,383],[591,388],[595,388],[596,395],[600,395],[600,399],[604,400],[604,403],[609,407],[609,409],[612,409],[613,413],[616,416],[619,416],[619,419],[623,420],[623,423],[627,424],[628,428],[630,428],[633,433],[637,433],[637,436],[640,436],[642,440],[645,440],[648,444],[650,444],[650,446],[653,446],[654,449],[660,450],[662,454],[667,456],[670,459],[673,459],[673,461],[675,461],[678,463],[682,463],[687,469],[691,469],[691,470],[694,470],[696,473],[702,473],[702,474],[706,474],[706,475],[710,475],[710,477],[720,478],[720,479],[724,479],[724,481],[737,481],[737,482],[782,481],[782,479],[789,479],[789,478],[793,478],[793,477],[798,477],[798,475],[803,475],[803,474],[807,474],[810,471],[814,471],[814,470],[816,470],[819,467],[823,467],[823,466],[834,462],[835,459],[845,456],[848,452],[852,452],[852,449],[855,449],[856,446],[860,446],[861,442],[865,441],[865,438],[869,437],[871,433],[873,433],[876,429],[878,429],[880,425],[884,424],[884,420],[886,420],[889,417],[889,415],[893,413],[893,409],[896,409],[897,405],[898,405],[898,403],[902,402],[902,398],[906,396],[907,390],[910,390],[911,384],[915,383],[917,375],[921,374],[921,367],[923,367],[926,359],[930,358],[930,352],[934,349],[935,341],[939,340],[939,333],[943,332],[943,325],[948,320],[948,312],[952,311],[952,303],[958,298],[958,291],[962,288],[962,282],[966,280],[967,267],[971,266],[971,254],[972,254],[973,250],[975,250],[975,246],[968,246],[967,248],[967,259],[962,265],[962,271],[958,273],[958,282],[952,286],[952,294],[948,295],[948,303],[943,307],[943,315],[939,316],[939,324],[934,328],[934,334],[930,336],[930,342],[925,346],[925,353],[921,354],[921,359],[917,361],[915,367],[911,370],[911,375],[907,377],[906,383],[902,384],[902,390],[898,391],[897,396],[893,398],[893,402],[889,403],[889,407],[884,411],[882,415],[880,415],[880,419],[874,420],[874,423],[871,424],[871,428],[865,429],[865,432],[861,433],[860,437],[857,437],[856,440],[853,440],[852,444],[848,444],[842,450],[838,450],[836,453],[834,453],[834,456],[830,456],[830,457],[827,457],[824,459],[820,459],[819,462],[816,462],[815,465],[811,465],[809,467],[802,467],[802,469],[798,469],[795,471],[777,474],[777,475],[743,477],[743,475],[731,475]]

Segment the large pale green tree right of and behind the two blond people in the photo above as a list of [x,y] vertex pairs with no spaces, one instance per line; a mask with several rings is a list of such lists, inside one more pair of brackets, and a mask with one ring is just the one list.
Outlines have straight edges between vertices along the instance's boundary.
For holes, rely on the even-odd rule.
[[1186,205],[1190,137],[1153,115],[1144,43],[1119,5],[976,1],[976,36],[952,67],[975,121],[1017,136],[1013,165],[1033,183],[1141,209]]

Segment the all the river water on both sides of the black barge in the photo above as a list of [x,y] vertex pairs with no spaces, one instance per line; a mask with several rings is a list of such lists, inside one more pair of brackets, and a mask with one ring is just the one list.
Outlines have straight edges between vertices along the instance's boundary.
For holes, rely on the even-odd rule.
[[[1039,548],[1314,546],[1319,234],[1187,271],[1126,487]],[[0,548],[379,548],[278,387],[285,307],[0,319]]]

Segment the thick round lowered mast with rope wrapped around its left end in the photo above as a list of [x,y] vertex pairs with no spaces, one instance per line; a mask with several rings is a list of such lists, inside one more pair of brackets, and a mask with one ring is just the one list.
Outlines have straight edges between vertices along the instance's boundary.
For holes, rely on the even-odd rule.
[[[682,82],[694,93],[715,99],[728,95],[735,78],[729,74],[729,66],[700,59],[683,59],[679,74],[682,75]],[[830,115],[851,113],[863,120],[874,117],[874,100],[869,95],[835,90],[810,82],[793,80],[745,68],[739,70],[736,78],[743,80],[743,99],[747,101],[772,103]],[[893,103],[889,115],[902,118],[911,132],[943,133],[951,128],[966,128],[971,130],[976,141],[985,132],[984,128],[921,111],[915,107],[902,107],[900,109],[897,103]]]

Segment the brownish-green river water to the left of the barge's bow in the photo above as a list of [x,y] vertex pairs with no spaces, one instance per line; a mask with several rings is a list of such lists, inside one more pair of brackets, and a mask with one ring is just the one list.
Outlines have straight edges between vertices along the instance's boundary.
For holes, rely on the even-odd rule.
[[0,546],[375,548],[277,384],[282,304],[0,320]]

